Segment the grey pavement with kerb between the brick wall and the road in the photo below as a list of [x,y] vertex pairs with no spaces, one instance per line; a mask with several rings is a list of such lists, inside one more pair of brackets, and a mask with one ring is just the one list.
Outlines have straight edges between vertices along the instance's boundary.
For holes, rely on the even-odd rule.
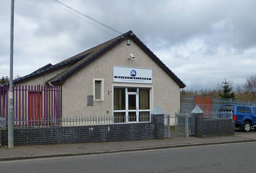
[[[110,153],[109,151],[117,151],[117,150],[131,151],[134,148],[155,147],[151,149],[157,149],[159,148],[159,146],[180,147],[180,146],[187,146],[184,144],[199,145],[198,143],[200,143],[200,145],[208,145],[208,143],[209,144],[213,144],[213,142],[224,143],[224,141],[226,141],[225,143],[256,141],[256,130],[252,129],[251,132],[246,133],[246,132],[240,132],[239,129],[236,128],[234,136],[219,136],[219,137],[206,137],[206,138],[196,138],[196,137],[187,138],[185,137],[185,135],[176,134],[174,131],[170,130],[170,139],[164,139],[164,140],[29,145],[29,146],[15,146],[12,149],[8,147],[0,147],[0,161],[1,161],[1,157],[12,157],[12,156],[45,155],[45,157],[48,157],[50,155],[62,156],[63,154],[64,154],[63,156],[70,156],[70,155],[83,155],[82,153],[84,152],[89,152],[89,153],[93,152],[94,154],[94,153],[97,153],[97,151],[105,151],[107,153]],[[78,153],[78,154],[75,154],[75,153]],[[24,157],[24,158],[36,158],[36,157]],[[19,158],[16,157],[16,159],[20,159],[20,157]],[[2,158],[2,160],[4,160],[4,158]]]

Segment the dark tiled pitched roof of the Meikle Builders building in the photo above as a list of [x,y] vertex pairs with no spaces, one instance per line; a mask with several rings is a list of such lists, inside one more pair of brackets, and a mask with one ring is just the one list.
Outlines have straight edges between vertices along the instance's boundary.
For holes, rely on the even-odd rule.
[[[131,36],[133,40],[135,40],[146,52],[148,52],[148,54],[179,84],[180,88],[186,87],[186,85],[150,49],[148,49],[147,46],[138,37],[136,37],[136,35],[132,31],[128,31],[116,38],[106,41],[84,52],[81,52],[55,65],[47,64],[44,67],[39,68],[38,70],[34,71],[29,75],[15,79],[13,82],[17,83],[20,80],[26,80],[26,78],[28,77],[32,77],[32,76],[41,74],[43,72],[52,70],[56,67],[69,64],[69,67],[66,70],[62,71],[61,73],[57,74],[56,76],[54,76],[53,78],[45,82],[46,85],[48,85],[49,82],[52,84],[63,83],[66,80],[66,78],[72,75],[72,72],[78,70],[80,67],[84,66],[89,61],[93,61],[102,52],[107,51],[109,48],[111,48],[113,45],[115,45],[116,43],[118,43],[120,40],[124,39],[127,36]],[[5,85],[8,85],[8,84],[9,83],[6,83]]]

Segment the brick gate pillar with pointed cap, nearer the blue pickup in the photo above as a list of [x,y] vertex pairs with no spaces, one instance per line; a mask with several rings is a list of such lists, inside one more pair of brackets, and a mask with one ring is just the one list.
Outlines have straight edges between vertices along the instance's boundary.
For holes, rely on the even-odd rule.
[[195,116],[195,137],[203,137],[204,135],[204,112],[198,105],[191,111]]

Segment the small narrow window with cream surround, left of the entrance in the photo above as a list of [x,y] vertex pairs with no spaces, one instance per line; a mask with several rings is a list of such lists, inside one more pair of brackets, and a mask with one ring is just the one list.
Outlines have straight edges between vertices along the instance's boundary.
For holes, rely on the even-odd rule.
[[93,78],[93,100],[103,101],[104,100],[104,79]]

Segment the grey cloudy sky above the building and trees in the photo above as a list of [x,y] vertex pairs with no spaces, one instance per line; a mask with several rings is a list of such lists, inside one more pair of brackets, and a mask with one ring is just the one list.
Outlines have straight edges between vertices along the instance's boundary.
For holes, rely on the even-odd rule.
[[[132,30],[186,88],[212,88],[225,75],[243,84],[256,73],[256,1],[60,2],[122,33]],[[9,76],[9,0],[1,1],[0,26],[0,75]],[[49,0],[16,0],[14,75],[27,75],[112,38]]]

